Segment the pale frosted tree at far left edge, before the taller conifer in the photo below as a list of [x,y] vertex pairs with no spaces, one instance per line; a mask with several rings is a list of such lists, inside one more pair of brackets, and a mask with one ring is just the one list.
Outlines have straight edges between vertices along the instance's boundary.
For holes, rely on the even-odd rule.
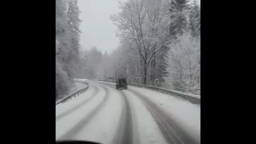
[[68,69],[70,43],[67,30],[68,19],[66,10],[65,1],[56,0],[56,90],[59,95],[68,93],[70,86],[70,73]]

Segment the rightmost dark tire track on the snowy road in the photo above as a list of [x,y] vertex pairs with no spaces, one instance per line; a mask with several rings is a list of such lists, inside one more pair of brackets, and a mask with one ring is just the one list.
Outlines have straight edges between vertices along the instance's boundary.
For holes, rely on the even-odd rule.
[[143,105],[148,109],[151,116],[154,118],[155,122],[157,123],[159,129],[163,137],[166,139],[168,143],[174,144],[194,144],[197,143],[189,135],[186,134],[174,121],[164,113],[155,103],[150,101],[144,95],[130,90],[132,93],[137,95],[137,97],[141,100]]

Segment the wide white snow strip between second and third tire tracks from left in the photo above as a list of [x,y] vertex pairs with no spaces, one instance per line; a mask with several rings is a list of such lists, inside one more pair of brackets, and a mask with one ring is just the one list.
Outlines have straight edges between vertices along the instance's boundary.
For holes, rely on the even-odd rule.
[[105,86],[110,94],[105,106],[92,117],[83,129],[76,135],[76,140],[97,141],[100,143],[113,143],[122,110],[120,93],[113,88]]

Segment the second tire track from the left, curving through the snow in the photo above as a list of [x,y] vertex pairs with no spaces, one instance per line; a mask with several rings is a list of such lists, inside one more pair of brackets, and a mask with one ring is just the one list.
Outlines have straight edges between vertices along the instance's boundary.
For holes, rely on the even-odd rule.
[[[101,86],[101,85],[99,85]],[[106,87],[101,86],[105,91],[105,96],[103,100],[95,107],[88,115],[86,115],[84,118],[81,119],[74,127],[72,127],[68,132],[63,134],[59,140],[70,140],[72,139],[79,131],[83,129],[83,126],[86,125],[91,118],[99,112],[99,110],[105,105],[106,101],[109,98],[109,91],[106,89]]]

